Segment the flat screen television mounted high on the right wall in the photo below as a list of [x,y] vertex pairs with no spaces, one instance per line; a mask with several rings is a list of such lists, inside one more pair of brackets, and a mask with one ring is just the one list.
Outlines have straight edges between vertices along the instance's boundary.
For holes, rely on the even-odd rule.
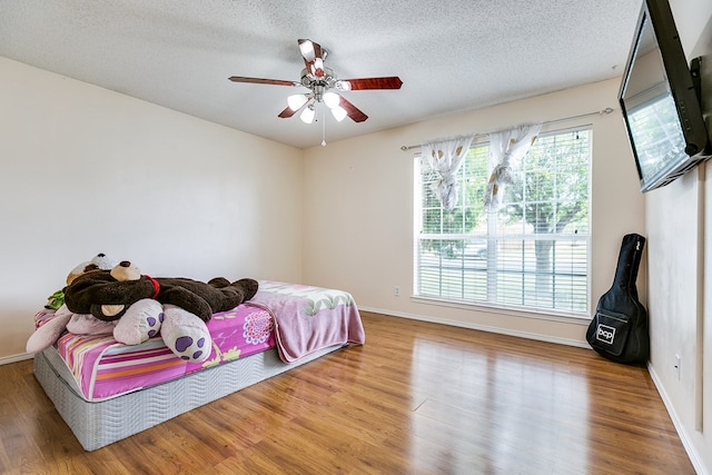
[[644,0],[619,92],[643,192],[712,155],[695,61],[693,73],[668,0]]

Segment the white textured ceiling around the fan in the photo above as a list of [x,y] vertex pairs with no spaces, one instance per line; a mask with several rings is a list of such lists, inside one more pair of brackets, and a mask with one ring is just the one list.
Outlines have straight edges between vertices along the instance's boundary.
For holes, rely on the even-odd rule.
[[[298,38],[369,116],[325,119],[329,141],[621,75],[641,0],[0,0],[0,56],[299,148],[322,123],[279,119],[303,88]],[[1,80],[1,79],[0,79]]]

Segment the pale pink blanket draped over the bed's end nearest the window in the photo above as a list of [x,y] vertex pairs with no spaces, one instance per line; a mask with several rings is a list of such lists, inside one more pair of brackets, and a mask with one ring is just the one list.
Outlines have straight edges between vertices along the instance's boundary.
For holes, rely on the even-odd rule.
[[271,311],[279,357],[285,363],[327,346],[366,342],[358,308],[346,291],[260,280],[251,303]]

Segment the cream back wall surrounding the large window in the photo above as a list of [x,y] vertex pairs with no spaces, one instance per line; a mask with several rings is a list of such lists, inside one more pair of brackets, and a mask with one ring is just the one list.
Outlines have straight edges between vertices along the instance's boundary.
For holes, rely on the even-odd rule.
[[[415,161],[413,151],[404,152],[400,146],[615,108],[611,115],[547,126],[593,125],[594,308],[613,280],[623,235],[644,234],[644,200],[617,109],[619,85],[620,80],[604,81],[306,150],[305,283],[348,289],[360,307],[392,315],[587,347],[586,319],[542,320],[411,299]],[[640,275],[644,299],[644,269]],[[395,286],[402,289],[399,297],[394,296]]]

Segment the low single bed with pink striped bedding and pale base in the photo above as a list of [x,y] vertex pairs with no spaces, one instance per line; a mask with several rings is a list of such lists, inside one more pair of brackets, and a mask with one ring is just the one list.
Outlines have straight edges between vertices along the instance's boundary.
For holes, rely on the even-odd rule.
[[[47,311],[37,319],[48,318]],[[34,356],[33,373],[86,451],[129,437],[236,390],[365,343],[345,291],[261,280],[255,297],[208,323],[205,363],[176,357],[151,338],[127,346],[110,335],[66,333]]]

